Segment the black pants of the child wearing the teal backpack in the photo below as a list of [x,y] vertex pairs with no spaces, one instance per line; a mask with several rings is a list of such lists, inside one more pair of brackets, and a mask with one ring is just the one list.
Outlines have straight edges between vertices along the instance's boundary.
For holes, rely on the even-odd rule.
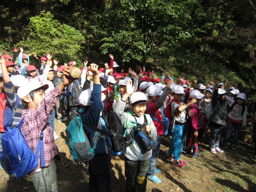
[[89,191],[111,191],[110,186],[111,156],[110,154],[95,155],[89,161]]

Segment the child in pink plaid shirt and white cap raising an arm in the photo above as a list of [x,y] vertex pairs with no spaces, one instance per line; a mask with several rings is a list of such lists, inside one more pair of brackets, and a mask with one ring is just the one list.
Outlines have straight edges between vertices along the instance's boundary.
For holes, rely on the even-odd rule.
[[49,86],[38,82],[28,82],[17,91],[19,98],[22,98],[23,106],[26,108],[22,111],[24,122],[20,131],[33,153],[36,153],[39,137],[43,131],[45,165],[41,161],[43,156],[40,154],[38,166],[30,173],[30,180],[36,191],[58,191],[57,167],[54,161],[58,149],[54,143],[54,133],[47,120],[61,94],[64,93],[65,87],[75,80],[68,73],[69,70],[65,69],[63,82],[49,93],[45,94],[45,90]]

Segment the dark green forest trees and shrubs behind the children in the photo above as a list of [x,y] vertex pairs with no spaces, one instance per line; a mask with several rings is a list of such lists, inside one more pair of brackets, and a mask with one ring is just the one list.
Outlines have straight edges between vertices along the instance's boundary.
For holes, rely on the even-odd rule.
[[254,0],[2,0],[0,49],[254,90]]

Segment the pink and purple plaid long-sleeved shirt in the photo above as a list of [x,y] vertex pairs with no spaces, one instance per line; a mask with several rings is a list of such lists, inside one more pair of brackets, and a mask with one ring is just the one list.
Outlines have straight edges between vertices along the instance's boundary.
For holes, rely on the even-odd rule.
[[[36,110],[27,109],[22,111],[22,118],[25,117],[20,131],[22,132],[25,140],[28,143],[30,149],[36,153],[37,144],[39,143],[40,133],[45,127],[47,120],[51,114],[51,111],[54,109],[58,100],[60,99],[61,94],[64,92],[60,88],[56,87],[54,90],[45,94],[45,98],[37,106]],[[43,131],[43,147],[45,152],[45,167],[48,167],[51,163],[51,160],[57,155],[58,149],[54,143],[54,133],[51,126],[48,124]],[[37,159],[38,166],[33,170],[31,174],[36,172],[36,170],[42,168],[39,157]]]

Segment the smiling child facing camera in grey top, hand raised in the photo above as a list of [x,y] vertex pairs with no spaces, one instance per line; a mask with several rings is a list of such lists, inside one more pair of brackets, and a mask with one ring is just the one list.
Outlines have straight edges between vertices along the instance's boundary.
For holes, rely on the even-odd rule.
[[[131,112],[124,113],[126,100],[130,96]],[[119,99],[114,112],[119,117],[122,123],[122,132],[126,132],[126,145],[123,149],[125,155],[125,177],[126,177],[126,192],[146,191],[146,174],[149,168],[149,158],[152,155],[152,149],[145,152],[142,150],[142,144],[135,139],[135,128],[144,125],[146,134],[151,141],[157,137],[157,130],[146,111],[146,102],[148,99],[142,92],[133,93],[131,80],[126,84],[126,93],[122,99]],[[148,122],[148,123],[146,123]],[[145,125],[146,124],[146,125]]]

